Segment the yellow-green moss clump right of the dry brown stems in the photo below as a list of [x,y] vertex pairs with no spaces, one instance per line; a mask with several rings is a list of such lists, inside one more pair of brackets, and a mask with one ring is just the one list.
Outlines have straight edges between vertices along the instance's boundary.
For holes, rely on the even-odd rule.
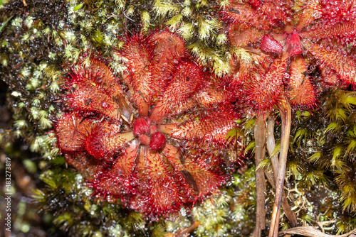
[[328,89],[320,95],[320,110],[295,113],[288,158],[295,187],[288,189],[294,204],[299,199],[307,210],[301,210],[310,216],[304,220],[329,233],[356,228],[355,104],[355,92]]

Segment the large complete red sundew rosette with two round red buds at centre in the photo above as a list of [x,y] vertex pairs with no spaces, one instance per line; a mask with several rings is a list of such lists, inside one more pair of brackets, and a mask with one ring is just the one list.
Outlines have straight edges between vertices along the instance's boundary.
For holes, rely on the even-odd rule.
[[56,123],[67,162],[98,197],[151,219],[219,192],[236,161],[226,134],[239,118],[219,79],[169,31],[126,38],[117,54],[127,67],[120,77],[90,57],[68,78]]

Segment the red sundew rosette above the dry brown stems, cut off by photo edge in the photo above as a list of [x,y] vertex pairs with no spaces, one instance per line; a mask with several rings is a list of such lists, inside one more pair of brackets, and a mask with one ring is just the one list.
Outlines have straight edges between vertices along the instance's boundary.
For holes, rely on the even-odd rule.
[[235,50],[231,84],[251,107],[266,111],[281,97],[313,106],[315,67],[323,86],[355,85],[355,1],[231,0],[221,15]]

